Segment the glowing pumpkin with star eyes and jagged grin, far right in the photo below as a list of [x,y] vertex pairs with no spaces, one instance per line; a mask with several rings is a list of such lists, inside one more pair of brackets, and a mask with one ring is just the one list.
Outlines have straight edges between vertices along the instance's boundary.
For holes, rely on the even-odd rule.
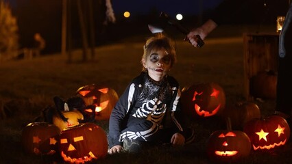
[[290,127],[279,115],[254,119],[247,122],[243,131],[250,137],[254,150],[270,150],[287,143]]

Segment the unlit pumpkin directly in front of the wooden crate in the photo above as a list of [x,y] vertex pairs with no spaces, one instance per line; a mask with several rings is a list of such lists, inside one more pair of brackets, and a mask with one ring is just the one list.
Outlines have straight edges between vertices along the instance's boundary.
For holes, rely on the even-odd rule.
[[258,72],[250,79],[250,93],[255,98],[276,98],[277,74],[269,70]]

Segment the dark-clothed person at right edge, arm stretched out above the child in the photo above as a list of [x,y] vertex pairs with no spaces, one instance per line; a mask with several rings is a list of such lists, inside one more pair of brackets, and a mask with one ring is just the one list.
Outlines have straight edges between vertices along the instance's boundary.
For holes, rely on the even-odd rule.
[[[273,7],[280,3],[278,1],[254,0],[254,1],[236,1],[225,0],[216,8],[215,12],[206,20],[203,25],[192,29],[186,36],[185,40],[197,47],[197,37],[199,35],[204,40],[219,25],[232,23],[233,20],[239,20],[239,15],[245,15],[250,12],[254,5],[262,5],[267,8],[267,12],[277,12],[278,15],[286,13],[284,25],[279,36],[279,54],[278,54],[278,77],[276,92],[276,109],[275,114],[282,116],[289,124],[292,124],[292,3],[291,1],[281,1],[287,4],[287,9],[273,11]],[[256,8],[257,10],[260,10]],[[243,13],[244,12],[244,13]],[[250,16],[249,16],[250,17]],[[276,18],[274,18],[276,20]]]

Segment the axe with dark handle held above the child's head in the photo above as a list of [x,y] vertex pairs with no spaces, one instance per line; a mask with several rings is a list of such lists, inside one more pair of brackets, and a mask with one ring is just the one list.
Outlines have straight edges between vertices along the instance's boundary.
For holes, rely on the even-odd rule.
[[[186,29],[186,27],[183,27],[177,20],[170,18],[165,12],[161,12],[159,17],[161,21],[160,23],[156,23],[155,25],[148,25],[151,33],[162,33],[165,29],[165,24],[176,27],[176,29],[184,33],[184,35],[187,35],[190,32],[188,29]],[[205,44],[199,35],[196,36],[196,39],[198,47],[202,47]]]

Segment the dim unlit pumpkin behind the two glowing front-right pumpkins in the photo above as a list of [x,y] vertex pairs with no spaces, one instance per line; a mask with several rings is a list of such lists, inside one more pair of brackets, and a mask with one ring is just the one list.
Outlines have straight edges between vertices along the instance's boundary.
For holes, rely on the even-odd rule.
[[223,117],[230,118],[233,129],[243,130],[246,122],[260,118],[260,109],[254,102],[237,102],[224,109]]

